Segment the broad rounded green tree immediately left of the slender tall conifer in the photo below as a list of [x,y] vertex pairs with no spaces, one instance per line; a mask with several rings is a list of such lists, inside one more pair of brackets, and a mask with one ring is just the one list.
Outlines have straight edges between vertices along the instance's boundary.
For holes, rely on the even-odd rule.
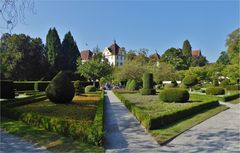
[[187,69],[181,49],[170,48],[161,56],[161,61],[173,65],[176,70]]

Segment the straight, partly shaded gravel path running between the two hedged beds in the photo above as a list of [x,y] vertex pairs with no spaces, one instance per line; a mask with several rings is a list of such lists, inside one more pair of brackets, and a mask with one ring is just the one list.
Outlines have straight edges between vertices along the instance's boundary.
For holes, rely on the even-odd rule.
[[112,91],[107,91],[105,110],[106,153],[157,152],[160,148]]

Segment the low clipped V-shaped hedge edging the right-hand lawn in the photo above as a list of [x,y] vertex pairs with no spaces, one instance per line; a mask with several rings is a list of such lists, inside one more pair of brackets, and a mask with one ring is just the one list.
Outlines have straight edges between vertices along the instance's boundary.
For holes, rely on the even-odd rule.
[[132,112],[135,117],[140,121],[140,123],[148,130],[159,129],[163,126],[170,125],[171,123],[179,121],[183,118],[195,115],[206,109],[211,109],[219,106],[219,102],[217,100],[198,102],[181,109],[168,111],[165,114],[160,115],[156,118],[151,118],[148,113],[143,112],[140,107],[136,106],[136,104],[131,103],[121,94],[115,91],[114,93],[124,103],[128,110]]

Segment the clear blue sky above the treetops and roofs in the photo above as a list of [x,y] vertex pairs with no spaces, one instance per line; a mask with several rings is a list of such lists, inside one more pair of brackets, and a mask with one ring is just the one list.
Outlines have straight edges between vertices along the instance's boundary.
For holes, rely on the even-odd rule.
[[61,41],[71,31],[79,50],[103,50],[113,40],[120,47],[149,49],[160,55],[168,48],[182,48],[188,39],[215,62],[226,51],[229,33],[240,25],[239,0],[35,0],[34,14],[26,12],[26,24],[12,33],[24,33],[46,41],[55,27]]

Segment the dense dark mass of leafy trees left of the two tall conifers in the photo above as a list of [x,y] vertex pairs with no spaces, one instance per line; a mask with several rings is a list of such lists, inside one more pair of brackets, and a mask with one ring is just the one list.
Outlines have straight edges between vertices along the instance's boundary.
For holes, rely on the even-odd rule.
[[46,52],[40,38],[3,34],[0,58],[0,71],[5,79],[39,80],[47,71]]

